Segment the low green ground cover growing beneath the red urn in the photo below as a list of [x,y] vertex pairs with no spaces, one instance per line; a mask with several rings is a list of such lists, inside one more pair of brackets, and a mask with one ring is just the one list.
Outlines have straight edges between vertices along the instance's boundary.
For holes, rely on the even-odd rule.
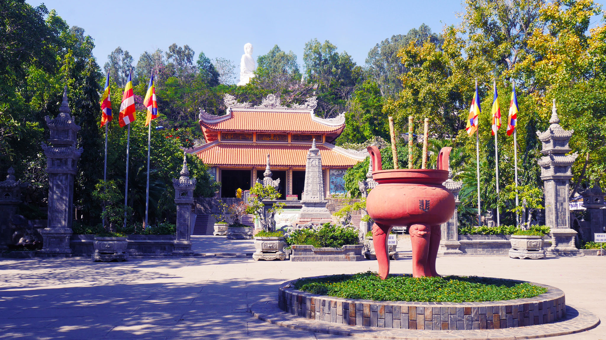
[[533,298],[547,292],[547,288],[530,283],[478,276],[389,275],[381,280],[373,272],[301,279],[295,282],[295,289],[338,298],[415,302],[501,301]]

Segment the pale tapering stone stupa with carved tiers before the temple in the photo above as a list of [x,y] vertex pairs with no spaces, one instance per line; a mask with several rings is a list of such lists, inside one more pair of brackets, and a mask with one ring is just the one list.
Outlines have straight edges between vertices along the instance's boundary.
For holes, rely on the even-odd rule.
[[316,140],[311,143],[305,164],[305,185],[301,197],[301,214],[296,224],[318,225],[332,223],[333,218],[326,208],[324,176],[322,175],[322,155],[316,148]]

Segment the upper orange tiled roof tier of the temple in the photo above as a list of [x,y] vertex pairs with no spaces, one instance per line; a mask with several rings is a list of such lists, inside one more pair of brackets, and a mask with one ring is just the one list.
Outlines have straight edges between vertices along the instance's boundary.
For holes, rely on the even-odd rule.
[[232,117],[217,123],[201,120],[201,125],[210,131],[240,132],[295,132],[327,133],[341,132],[345,124],[327,125],[311,119],[306,112],[232,111]]

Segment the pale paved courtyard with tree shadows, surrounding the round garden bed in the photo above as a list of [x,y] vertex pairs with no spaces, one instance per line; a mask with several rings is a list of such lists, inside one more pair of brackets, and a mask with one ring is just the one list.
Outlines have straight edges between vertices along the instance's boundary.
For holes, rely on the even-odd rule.
[[[220,238],[208,241],[223,244]],[[230,247],[221,252],[253,249],[252,241]],[[278,285],[293,278],[369,269],[376,270],[375,261],[1,260],[0,339],[341,339],[259,321],[248,306],[275,296]],[[410,259],[393,261],[391,271],[410,273]],[[606,320],[605,257],[439,257],[438,271],[549,284],[564,290],[568,304]],[[606,340],[606,325],[550,339]]]

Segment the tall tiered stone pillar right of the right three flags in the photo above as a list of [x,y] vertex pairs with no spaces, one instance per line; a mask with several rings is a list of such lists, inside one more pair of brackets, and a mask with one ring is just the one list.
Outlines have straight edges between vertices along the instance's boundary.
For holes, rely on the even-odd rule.
[[563,129],[559,122],[554,99],[549,120],[551,125],[544,132],[536,132],[542,143],[543,157],[538,165],[541,166],[541,179],[544,181],[545,225],[551,227],[550,236],[553,238],[547,253],[556,256],[582,255],[574,246],[574,237],[577,233],[570,227],[568,202],[571,168],[578,156],[576,153],[567,155],[571,151],[568,141],[574,131]]

